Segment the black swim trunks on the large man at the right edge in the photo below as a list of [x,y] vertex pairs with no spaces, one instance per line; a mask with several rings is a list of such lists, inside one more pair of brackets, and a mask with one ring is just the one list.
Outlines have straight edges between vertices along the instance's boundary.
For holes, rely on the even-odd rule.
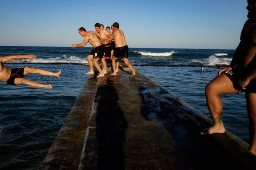
[[227,77],[233,82],[233,87],[236,90],[241,90],[241,92],[247,92],[247,93],[256,93],[256,78],[251,79],[249,84],[245,87],[246,89],[241,89],[241,87],[238,85],[238,81],[241,76],[239,76],[238,69],[236,67],[232,68],[229,72],[224,74],[227,75]]

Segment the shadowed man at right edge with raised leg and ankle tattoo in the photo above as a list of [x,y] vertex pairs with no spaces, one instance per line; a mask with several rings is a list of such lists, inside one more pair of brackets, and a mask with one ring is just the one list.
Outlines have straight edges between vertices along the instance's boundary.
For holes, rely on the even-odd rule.
[[201,134],[224,133],[221,94],[245,92],[247,115],[250,122],[249,151],[256,155],[256,0],[247,0],[248,20],[241,31],[240,43],[230,66],[221,69],[217,77],[205,87],[206,101],[213,126]]

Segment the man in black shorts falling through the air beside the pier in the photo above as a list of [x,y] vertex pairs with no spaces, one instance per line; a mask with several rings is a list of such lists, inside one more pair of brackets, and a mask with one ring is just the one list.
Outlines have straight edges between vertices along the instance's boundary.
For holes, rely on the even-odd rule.
[[27,66],[22,66],[19,68],[8,68],[3,65],[3,62],[11,61],[14,59],[34,59],[35,55],[13,55],[13,56],[5,56],[0,57],[0,81],[7,82],[9,85],[28,85],[32,88],[52,88],[52,85],[44,85],[38,82],[33,82],[27,79],[24,79],[27,74],[41,74],[43,76],[61,76],[61,70],[57,73],[52,73],[46,70],[38,69],[38,68],[30,68]]

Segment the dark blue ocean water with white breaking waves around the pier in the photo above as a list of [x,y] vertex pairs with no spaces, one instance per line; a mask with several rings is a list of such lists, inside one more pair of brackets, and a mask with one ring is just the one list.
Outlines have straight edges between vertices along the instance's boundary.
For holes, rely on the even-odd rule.
[[[52,89],[13,86],[0,82],[0,169],[36,170],[47,155],[81,88],[91,75],[87,55],[90,47],[0,46],[0,56],[35,54],[4,64],[10,68],[26,65],[57,72],[60,78],[36,74],[26,79],[52,84]],[[172,94],[210,117],[204,87],[231,62],[234,50],[130,48],[134,68]],[[204,67],[201,73],[200,68]],[[223,121],[230,130],[249,142],[244,94],[222,95]]]

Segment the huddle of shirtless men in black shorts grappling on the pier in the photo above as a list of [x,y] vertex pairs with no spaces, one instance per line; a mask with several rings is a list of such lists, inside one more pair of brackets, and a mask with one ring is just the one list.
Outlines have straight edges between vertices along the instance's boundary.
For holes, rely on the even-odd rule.
[[[119,29],[119,23],[113,23],[108,30],[104,29],[104,26],[100,23],[94,25],[96,31],[86,31],[84,27],[79,28],[79,34],[84,37],[84,41],[80,44],[72,44],[72,47],[83,47],[89,42],[93,46],[93,50],[87,57],[90,71],[86,74],[94,74],[93,65],[99,71],[97,77],[103,77],[108,73],[108,60],[111,59],[113,73],[116,75],[118,72],[119,57],[123,58],[125,64],[131,70],[131,76],[135,76],[136,72],[129,62],[128,52],[129,48],[125,41],[125,36],[122,30]],[[99,65],[99,60],[102,62],[102,68]]]

